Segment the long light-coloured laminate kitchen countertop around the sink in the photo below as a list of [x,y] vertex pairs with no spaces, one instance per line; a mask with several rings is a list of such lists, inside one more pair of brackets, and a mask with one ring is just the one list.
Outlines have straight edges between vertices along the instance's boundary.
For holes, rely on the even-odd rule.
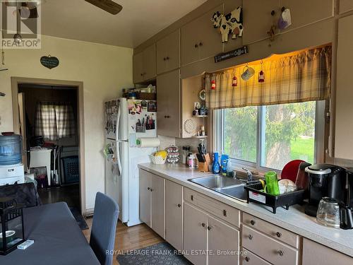
[[288,211],[280,207],[277,208],[277,213],[274,214],[270,207],[254,203],[246,204],[188,181],[188,179],[193,177],[213,175],[212,172],[198,172],[182,164],[154,165],[152,163],[143,163],[139,164],[138,167],[353,257],[353,230],[327,228],[319,225],[316,222],[316,218],[307,216],[304,213],[303,206],[290,206]]

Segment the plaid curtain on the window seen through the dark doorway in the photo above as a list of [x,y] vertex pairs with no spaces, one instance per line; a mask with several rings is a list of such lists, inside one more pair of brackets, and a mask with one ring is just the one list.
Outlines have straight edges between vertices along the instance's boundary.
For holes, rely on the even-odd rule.
[[75,134],[75,119],[69,103],[37,103],[35,136],[43,136],[45,140],[56,141]]

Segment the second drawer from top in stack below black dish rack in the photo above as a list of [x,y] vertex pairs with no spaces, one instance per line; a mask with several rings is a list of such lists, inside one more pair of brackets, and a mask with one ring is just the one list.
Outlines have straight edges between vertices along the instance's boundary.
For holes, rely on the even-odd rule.
[[276,265],[298,264],[299,251],[243,225],[243,247]]

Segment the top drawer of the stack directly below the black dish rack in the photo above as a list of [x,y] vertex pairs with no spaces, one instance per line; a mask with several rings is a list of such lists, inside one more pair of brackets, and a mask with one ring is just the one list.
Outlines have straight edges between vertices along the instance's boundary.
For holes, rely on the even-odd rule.
[[294,234],[293,232],[289,232],[277,225],[273,225],[260,218],[251,216],[248,213],[243,213],[243,223],[249,225],[251,228],[260,230],[270,237],[274,237],[276,240],[285,242],[292,247],[299,248],[299,235]]

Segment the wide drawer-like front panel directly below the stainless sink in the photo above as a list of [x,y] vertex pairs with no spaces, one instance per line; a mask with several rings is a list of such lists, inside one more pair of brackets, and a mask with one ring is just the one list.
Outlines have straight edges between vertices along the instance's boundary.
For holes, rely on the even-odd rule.
[[240,211],[208,196],[184,189],[184,200],[239,228]]

